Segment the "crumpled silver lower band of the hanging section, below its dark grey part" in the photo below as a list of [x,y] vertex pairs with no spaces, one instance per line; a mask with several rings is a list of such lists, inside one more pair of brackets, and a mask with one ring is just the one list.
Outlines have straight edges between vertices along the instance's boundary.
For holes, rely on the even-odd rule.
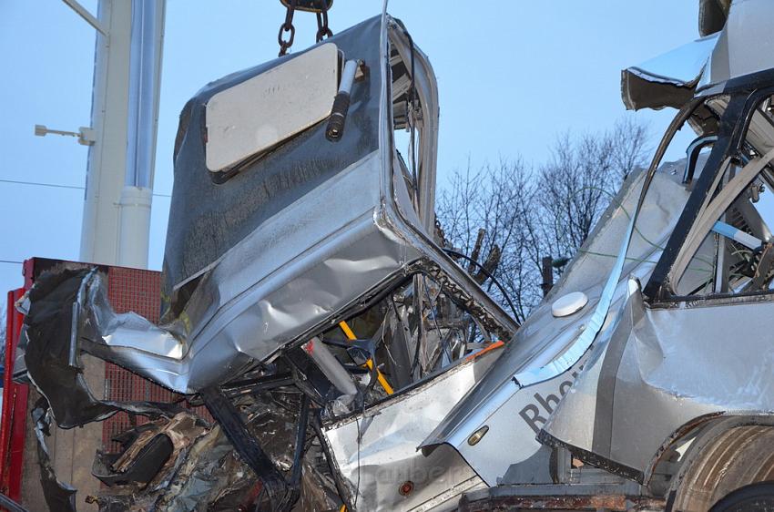
[[[228,251],[194,292],[189,304],[196,308],[186,310],[186,322],[169,330],[191,326],[189,333],[178,334],[183,340],[178,348],[170,351],[168,337],[153,343],[148,334],[158,327],[147,321],[131,334],[141,323],[136,315],[112,315],[103,302],[96,311],[109,318],[100,331],[110,350],[105,353],[97,345],[87,350],[158,384],[192,393],[235,374],[251,359],[270,358],[282,346],[280,340],[287,343],[376,284],[401,277],[418,253],[383,229],[374,211],[379,195],[372,183],[379,179],[378,164],[375,155],[358,162],[330,187],[313,190],[302,207],[291,205]],[[349,208],[327,209],[331,201]],[[310,204],[328,214],[310,215]],[[266,240],[285,243],[266,245]],[[300,258],[294,240],[316,242]],[[257,253],[262,257],[251,257]],[[255,282],[256,275],[267,277]]]

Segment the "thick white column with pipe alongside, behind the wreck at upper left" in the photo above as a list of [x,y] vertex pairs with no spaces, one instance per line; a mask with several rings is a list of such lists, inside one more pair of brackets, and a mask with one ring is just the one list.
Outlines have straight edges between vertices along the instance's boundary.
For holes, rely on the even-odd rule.
[[99,0],[81,261],[148,266],[163,0]]

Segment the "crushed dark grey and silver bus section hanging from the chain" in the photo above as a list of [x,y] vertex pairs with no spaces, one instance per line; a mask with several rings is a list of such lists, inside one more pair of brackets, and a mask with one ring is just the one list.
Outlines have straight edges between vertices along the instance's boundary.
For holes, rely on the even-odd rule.
[[[62,284],[70,291],[83,288],[62,297],[77,297],[84,322],[72,333],[61,332],[70,338],[66,345],[191,394],[304,343],[304,336],[357,312],[423,268],[443,273],[509,339],[514,321],[427,230],[434,227],[435,81],[426,57],[405,47],[410,39],[402,31],[383,15],[326,39],[369,68],[353,86],[341,140],[328,141],[324,127],[315,125],[221,179],[212,179],[204,163],[201,127],[209,98],[294,56],[199,91],[178,130],[164,263],[166,324],[159,328],[132,313],[113,312],[93,274],[77,285]],[[423,140],[429,146],[423,189],[413,191],[422,203],[419,213],[389,133],[391,84],[382,72],[391,62],[388,44],[412,57],[416,85],[423,89]],[[45,286],[52,297],[64,293]]]

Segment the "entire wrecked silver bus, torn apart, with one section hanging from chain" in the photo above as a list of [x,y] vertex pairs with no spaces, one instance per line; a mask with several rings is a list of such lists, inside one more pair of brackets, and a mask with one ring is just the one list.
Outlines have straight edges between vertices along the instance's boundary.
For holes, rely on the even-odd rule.
[[[151,421],[97,454],[101,510],[771,507],[774,66],[749,51],[774,45],[771,7],[709,4],[701,39],[624,72],[628,108],[677,115],[523,325],[486,264],[444,248],[435,78],[400,21],[202,88],[161,323],[114,312],[99,267],[52,269],[17,304],[41,464],[49,422],[126,411]],[[686,159],[662,163],[681,128]],[[98,399],[83,353],[213,421]]]

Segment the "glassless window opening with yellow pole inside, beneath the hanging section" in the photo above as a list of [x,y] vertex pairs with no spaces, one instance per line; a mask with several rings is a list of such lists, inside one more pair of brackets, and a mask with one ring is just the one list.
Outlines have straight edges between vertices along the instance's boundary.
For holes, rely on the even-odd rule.
[[[417,284],[421,296],[414,293]],[[413,276],[382,301],[321,333],[320,338],[366,390],[365,406],[502,344],[453,295],[424,274]],[[379,374],[369,367],[370,356]]]

